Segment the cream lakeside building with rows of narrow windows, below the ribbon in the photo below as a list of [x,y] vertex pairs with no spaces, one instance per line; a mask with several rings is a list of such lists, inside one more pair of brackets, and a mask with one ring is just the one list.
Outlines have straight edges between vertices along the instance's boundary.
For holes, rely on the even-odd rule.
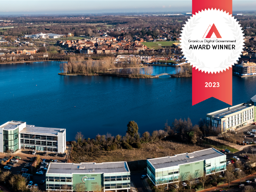
[[216,131],[227,132],[254,122],[254,106],[241,103],[206,114],[207,126]]

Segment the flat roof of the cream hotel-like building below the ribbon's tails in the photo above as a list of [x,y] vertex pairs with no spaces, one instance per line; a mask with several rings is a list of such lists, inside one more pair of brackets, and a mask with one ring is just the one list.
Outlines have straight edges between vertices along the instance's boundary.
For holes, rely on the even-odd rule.
[[207,115],[211,115],[216,118],[223,118],[232,113],[237,113],[238,111],[242,111],[246,108],[253,107],[250,103],[241,103],[232,107],[224,108],[219,111],[214,111],[212,113],[208,113]]

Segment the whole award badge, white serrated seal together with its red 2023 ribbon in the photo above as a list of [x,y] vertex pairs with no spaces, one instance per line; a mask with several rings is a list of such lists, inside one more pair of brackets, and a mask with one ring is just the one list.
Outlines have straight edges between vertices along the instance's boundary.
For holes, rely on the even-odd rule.
[[[223,3],[224,2],[224,3]],[[232,0],[192,0],[181,48],[192,65],[192,105],[214,97],[232,105],[232,65],[244,48]]]

